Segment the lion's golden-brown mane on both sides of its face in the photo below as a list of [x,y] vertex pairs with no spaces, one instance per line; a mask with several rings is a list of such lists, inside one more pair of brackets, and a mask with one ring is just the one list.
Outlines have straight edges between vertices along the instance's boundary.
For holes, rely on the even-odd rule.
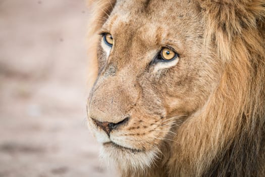
[[[265,2],[193,2],[205,21],[205,50],[219,63],[215,70],[220,82],[204,107],[177,130],[168,173],[265,176]],[[95,33],[115,3],[101,0],[91,5],[92,62],[96,62]]]

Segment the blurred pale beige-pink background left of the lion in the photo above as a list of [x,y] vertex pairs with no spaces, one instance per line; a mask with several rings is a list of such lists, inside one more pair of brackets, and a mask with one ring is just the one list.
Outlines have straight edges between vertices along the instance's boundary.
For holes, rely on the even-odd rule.
[[0,1],[0,176],[116,176],[86,126],[83,0]]

